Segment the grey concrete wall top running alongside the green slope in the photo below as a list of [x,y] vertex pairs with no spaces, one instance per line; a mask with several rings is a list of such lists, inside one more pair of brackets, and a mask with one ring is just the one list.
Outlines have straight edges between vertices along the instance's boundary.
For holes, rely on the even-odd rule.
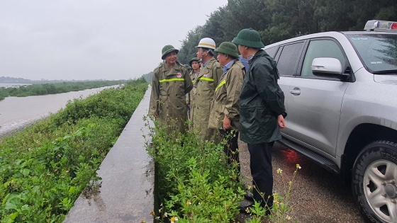
[[[142,135],[149,132],[147,115],[150,86],[128,124],[97,171],[100,193],[80,195],[64,222],[153,222],[155,164],[145,150]],[[143,132],[142,132],[143,130]]]

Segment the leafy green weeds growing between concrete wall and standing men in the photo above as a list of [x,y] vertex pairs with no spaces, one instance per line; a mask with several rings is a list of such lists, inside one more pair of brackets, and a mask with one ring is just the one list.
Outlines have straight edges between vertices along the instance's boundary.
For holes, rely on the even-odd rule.
[[[231,222],[239,213],[244,191],[235,163],[228,165],[223,146],[201,142],[196,132],[171,134],[152,127],[160,222]],[[183,142],[183,143],[182,143]]]

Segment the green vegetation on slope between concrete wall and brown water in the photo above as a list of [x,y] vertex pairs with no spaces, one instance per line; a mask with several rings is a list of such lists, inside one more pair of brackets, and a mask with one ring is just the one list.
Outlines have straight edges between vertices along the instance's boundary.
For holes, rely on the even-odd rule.
[[86,99],[10,137],[0,139],[0,220],[62,222],[147,89],[129,81]]

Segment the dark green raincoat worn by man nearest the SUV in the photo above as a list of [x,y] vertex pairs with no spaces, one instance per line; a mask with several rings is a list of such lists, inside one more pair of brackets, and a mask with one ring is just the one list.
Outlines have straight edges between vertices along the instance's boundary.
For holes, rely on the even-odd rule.
[[240,139],[261,144],[281,139],[277,116],[286,117],[276,62],[264,50],[251,60],[240,93]]

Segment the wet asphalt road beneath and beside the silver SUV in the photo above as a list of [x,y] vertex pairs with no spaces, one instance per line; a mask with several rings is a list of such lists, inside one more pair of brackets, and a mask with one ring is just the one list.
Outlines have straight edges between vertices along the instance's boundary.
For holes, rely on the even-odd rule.
[[[250,153],[247,144],[240,142],[240,165],[242,174],[250,179]],[[279,143],[272,148],[274,190],[282,190],[291,181],[296,164],[301,165],[293,182],[290,202],[293,205],[291,217],[298,222],[315,223],[359,223],[364,222],[354,206],[350,186],[340,181],[340,176],[326,171],[305,156]],[[281,168],[283,176],[276,170]],[[244,222],[247,215],[239,215]],[[291,221],[293,222],[293,221]]]

